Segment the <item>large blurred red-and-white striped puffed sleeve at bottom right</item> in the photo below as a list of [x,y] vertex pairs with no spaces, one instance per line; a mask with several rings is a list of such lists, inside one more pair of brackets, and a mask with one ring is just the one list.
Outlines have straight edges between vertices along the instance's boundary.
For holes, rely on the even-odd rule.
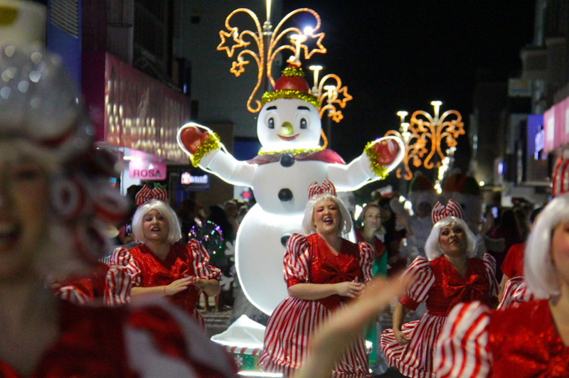
[[490,309],[480,302],[460,303],[450,311],[435,345],[437,378],[488,377]]

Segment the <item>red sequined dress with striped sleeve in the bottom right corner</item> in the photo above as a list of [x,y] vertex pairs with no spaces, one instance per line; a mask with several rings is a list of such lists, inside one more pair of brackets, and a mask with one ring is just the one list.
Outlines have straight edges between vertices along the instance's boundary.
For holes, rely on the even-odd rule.
[[569,377],[569,347],[546,299],[494,312],[464,303],[437,343],[437,377]]

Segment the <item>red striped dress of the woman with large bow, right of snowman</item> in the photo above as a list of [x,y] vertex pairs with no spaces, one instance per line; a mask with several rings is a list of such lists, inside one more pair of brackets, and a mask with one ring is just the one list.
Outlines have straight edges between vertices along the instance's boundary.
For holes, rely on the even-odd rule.
[[433,358],[437,337],[450,310],[461,302],[482,301],[496,306],[498,283],[494,277],[494,258],[467,259],[467,274],[462,277],[445,257],[428,261],[417,257],[405,271],[412,276],[400,303],[415,310],[425,301],[427,313],[419,320],[402,325],[410,342],[400,345],[393,329],[383,331],[380,347],[389,366],[395,366],[407,377],[435,377]]

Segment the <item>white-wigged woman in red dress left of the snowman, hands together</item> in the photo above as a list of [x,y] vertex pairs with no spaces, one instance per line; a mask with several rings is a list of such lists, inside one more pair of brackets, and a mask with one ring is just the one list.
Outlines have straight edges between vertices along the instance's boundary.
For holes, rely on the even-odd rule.
[[209,265],[206,249],[196,240],[181,239],[178,217],[160,200],[149,200],[132,217],[132,229],[143,242],[132,249],[119,247],[111,264],[125,266],[132,279],[131,296],[152,293],[165,296],[205,328],[196,309],[201,292],[216,296],[220,291],[221,271]]

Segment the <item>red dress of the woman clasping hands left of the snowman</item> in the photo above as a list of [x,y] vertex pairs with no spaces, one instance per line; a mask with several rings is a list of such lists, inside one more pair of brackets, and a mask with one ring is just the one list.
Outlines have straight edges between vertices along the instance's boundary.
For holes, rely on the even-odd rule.
[[[132,286],[151,287],[169,285],[177,279],[196,276],[200,279],[221,278],[221,271],[209,265],[209,255],[206,249],[196,240],[190,240],[187,245],[171,244],[166,259],[161,260],[144,244],[132,249],[119,248],[111,257],[111,263],[126,266],[132,279]],[[205,323],[196,309],[199,301],[196,286],[191,285],[186,290],[167,296],[183,308],[204,327]]]

